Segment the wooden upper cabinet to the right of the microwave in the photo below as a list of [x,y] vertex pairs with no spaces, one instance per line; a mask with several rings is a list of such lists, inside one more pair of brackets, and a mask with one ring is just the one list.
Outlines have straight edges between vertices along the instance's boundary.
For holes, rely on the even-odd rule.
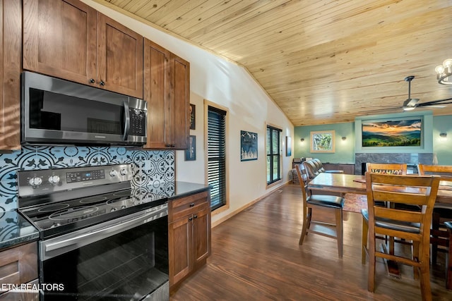
[[148,149],[186,149],[189,138],[190,64],[148,39],[144,42]]

